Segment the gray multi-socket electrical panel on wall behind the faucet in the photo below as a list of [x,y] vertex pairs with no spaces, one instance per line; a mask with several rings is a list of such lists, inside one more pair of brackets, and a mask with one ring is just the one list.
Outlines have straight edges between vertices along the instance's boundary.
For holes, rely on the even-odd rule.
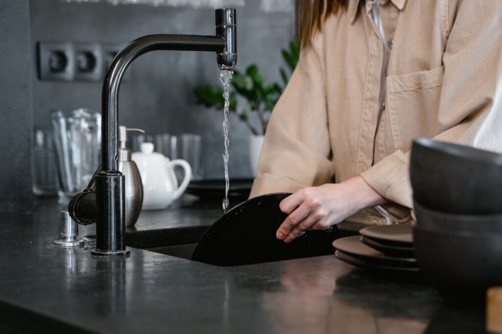
[[[48,81],[103,81],[124,44],[39,42],[38,73]],[[130,80],[126,71],[123,80]]]

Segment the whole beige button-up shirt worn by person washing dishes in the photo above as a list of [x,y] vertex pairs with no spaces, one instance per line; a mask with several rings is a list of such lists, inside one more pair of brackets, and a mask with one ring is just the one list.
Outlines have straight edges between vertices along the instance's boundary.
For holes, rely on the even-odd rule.
[[[350,0],[302,50],[272,113],[251,197],[361,175],[407,222],[413,138],[502,151],[502,0],[383,0],[392,40],[384,108],[373,2]],[[348,220],[386,222],[375,209]]]

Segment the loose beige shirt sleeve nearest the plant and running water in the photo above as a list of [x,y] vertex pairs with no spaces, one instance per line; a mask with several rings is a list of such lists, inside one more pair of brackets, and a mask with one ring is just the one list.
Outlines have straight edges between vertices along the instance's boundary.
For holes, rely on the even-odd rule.
[[302,49],[267,127],[250,197],[331,181],[334,168],[323,73],[315,47]]

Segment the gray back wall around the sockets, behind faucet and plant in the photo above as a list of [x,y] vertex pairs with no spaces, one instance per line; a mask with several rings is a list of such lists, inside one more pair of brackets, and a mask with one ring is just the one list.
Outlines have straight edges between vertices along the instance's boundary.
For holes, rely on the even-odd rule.
[[[214,34],[214,11],[190,7],[111,6],[106,3],[30,1],[32,49],[38,41],[127,43],[148,34]],[[293,35],[293,13],[264,13],[259,1],[237,8],[238,66],[257,63],[267,80],[279,79],[284,66],[281,49]],[[53,109],[79,107],[100,110],[101,83],[40,81],[32,52],[34,128],[50,128]],[[137,59],[128,69],[119,96],[119,123],[149,133],[201,134],[204,178],[222,178],[223,114],[195,104],[194,86],[219,84],[215,55],[201,52],[155,51]],[[230,116],[232,177],[249,177],[249,131]]]

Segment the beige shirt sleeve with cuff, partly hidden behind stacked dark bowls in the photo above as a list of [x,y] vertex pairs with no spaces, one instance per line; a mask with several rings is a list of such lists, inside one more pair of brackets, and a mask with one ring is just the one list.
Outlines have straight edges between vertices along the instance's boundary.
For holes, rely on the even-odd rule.
[[[500,0],[455,0],[443,55],[438,110],[441,141],[502,151],[502,6]],[[448,20],[448,18],[446,19]],[[388,200],[413,207],[410,152],[398,150],[361,174]]]

